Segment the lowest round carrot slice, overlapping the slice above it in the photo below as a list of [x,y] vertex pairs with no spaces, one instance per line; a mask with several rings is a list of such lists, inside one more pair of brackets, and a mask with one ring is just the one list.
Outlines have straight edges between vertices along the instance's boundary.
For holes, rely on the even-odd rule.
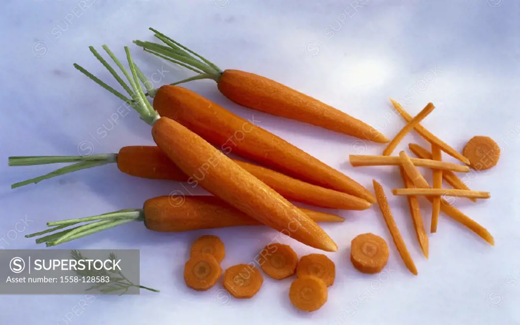
[[297,278],[289,289],[291,303],[304,311],[318,310],[327,302],[327,296],[327,285],[315,276]]

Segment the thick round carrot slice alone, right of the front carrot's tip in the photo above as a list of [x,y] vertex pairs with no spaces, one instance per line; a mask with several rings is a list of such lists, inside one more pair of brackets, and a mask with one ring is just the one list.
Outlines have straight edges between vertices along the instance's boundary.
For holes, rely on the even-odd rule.
[[388,263],[386,241],[373,233],[361,233],[350,243],[350,262],[362,273],[379,273]]

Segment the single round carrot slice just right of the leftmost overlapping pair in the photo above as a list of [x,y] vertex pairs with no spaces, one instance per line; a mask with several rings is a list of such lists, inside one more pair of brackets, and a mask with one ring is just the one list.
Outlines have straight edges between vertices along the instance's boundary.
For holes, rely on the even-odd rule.
[[262,287],[260,271],[248,264],[237,264],[224,272],[224,288],[235,298],[251,298]]

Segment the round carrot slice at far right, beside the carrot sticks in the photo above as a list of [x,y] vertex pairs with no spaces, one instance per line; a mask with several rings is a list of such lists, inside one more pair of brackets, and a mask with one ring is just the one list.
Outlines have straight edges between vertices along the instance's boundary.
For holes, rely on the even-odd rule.
[[467,141],[462,154],[474,170],[483,171],[498,163],[500,147],[490,137],[476,136]]

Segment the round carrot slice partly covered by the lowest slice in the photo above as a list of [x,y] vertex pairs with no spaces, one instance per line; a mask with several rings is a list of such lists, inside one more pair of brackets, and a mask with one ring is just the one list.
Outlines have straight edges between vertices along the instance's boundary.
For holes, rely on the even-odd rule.
[[334,284],[336,277],[336,266],[329,257],[323,254],[309,254],[302,256],[296,268],[298,278],[315,276],[325,283],[327,287]]

